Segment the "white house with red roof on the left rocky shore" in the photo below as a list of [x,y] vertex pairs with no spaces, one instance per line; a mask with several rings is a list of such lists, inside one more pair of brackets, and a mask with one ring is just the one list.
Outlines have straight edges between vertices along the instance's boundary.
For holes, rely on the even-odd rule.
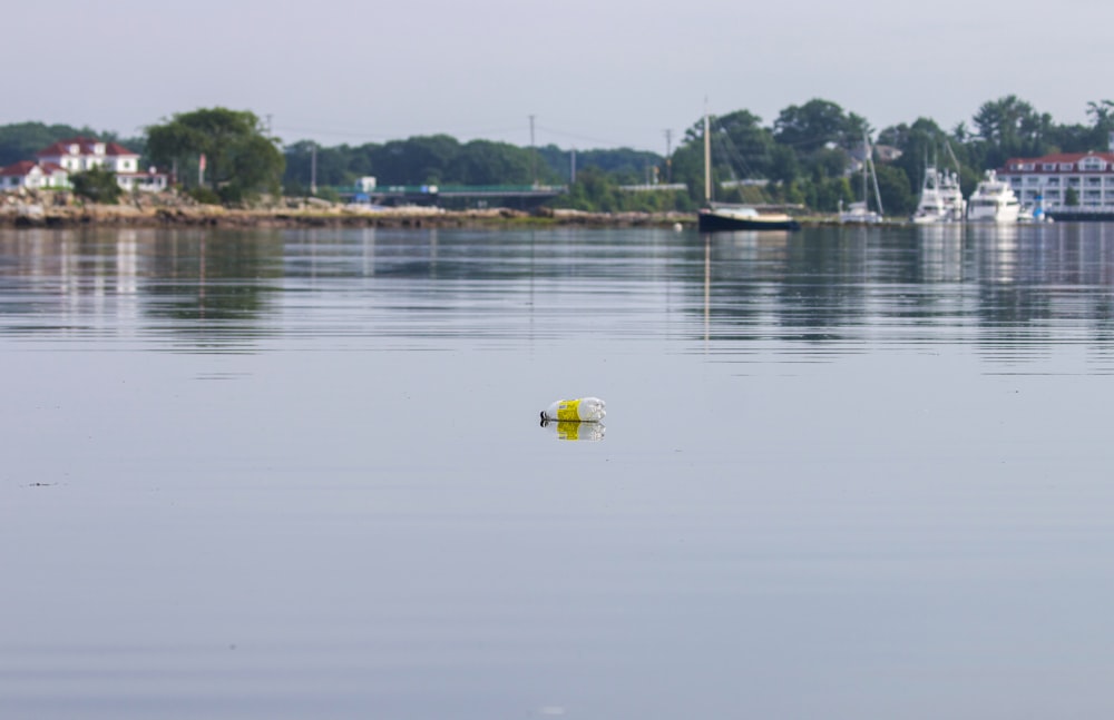
[[139,171],[139,154],[117,142],[90,138],[59,140],[35,154],[38,160],[22,160],[0,168],[0,190],[18,188],[68,188],[72,172],[101,168],[116,174],[125,190],[157,191],[166,189],[166,174],[150,168]]

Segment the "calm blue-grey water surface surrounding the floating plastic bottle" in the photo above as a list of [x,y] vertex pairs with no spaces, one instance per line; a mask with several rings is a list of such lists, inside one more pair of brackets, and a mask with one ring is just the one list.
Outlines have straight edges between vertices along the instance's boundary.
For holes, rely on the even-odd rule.
[[1112,290],[1102,225],[0,233],[0,717],[1114,716]]

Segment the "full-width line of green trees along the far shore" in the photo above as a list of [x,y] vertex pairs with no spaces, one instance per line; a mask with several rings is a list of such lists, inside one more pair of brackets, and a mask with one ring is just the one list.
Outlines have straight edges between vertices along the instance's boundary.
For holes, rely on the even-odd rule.
[[[929,118],[876,131],[836,102],[812,99],[793,105],[765,125],[749,110],[735,110],[712,122],[712,174],[716,199],[800,204],[833,211],[861,199],[861,184],[850,172],[861,160],[863,138],[897,150],[896,158],[874,157],[882,204],[889,215],[911,213],[925,168],[958,164],[965,194],[989,168],[1012,157],[1051,152],[1106,150],[1114,131],[1114,101],[1087,103],[1087,122],[1061,125],[1016,96],[983,103],[971,122],[945,129]],[[556,204],[584,210],[692,210],[704,195],[704,122],[700,118],[666,158],[629,148],[573,150],[555,145],[520,147],[491,140],[460,142],[448,135],[359,146],[323,147],[299,140],[282,147],[267,137],[247,111],[199,109],[175,115],[137,138],[119,138],[89,128],[23,122],[0,127],[0,165],[33,158],[65,137],[113,140],[143,154],[145,164],[177,170],[187,188],[214,201],[234,201],[260,191],[319,195],[373,176],[390,185],[567,185]],[[204,154],[208,167],[199,174]],[[726,180],[752,180],[727,184]],[[628,185],[672,181],[680,191],[635,193]],[[758,180],[754,183],[753,180]],[[727,188],[727,189],[722,189]]]

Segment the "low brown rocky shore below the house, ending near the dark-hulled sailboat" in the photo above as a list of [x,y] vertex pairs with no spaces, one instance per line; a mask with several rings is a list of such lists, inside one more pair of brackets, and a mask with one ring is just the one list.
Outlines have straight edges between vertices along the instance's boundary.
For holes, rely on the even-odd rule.
[[314,199],[225,208],[170,195],[134,198],[119,205],[80,203],[61,193],[0,196],[0,227],[673,227],[695,221],[695,215],[684,213],[582,213],[548,208],[524,213],[506,208],[443,210],[412,206],[373,208]]

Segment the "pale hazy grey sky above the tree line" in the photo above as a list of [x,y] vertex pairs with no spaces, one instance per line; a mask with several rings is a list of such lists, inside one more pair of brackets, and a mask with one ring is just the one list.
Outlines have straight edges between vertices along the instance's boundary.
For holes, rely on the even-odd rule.
[[674,147],[703,112],[811,98],[877,129],[1017,95],[1057,122],[1114,98],[1107,0],[8,2],[0,125],[125,136],[225,106],[284,141]]

